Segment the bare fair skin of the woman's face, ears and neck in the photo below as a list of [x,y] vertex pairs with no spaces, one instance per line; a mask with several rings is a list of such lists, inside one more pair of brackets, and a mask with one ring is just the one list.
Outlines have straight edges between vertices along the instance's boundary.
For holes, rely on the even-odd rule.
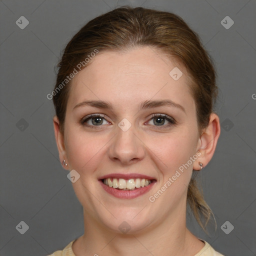
[[[176,81],[169,75],[175,66],[183,72]],[[111,102],[113,109],[74,108],[84,100],[99,99]],[[174,106],[139,108],[145,100],[162,99],[180,104],[184,111]],[[88,126],[82,125],[80,120],[92,113],[105,115],[102,124],[89,119]],[[157,125],[154,113],[166,114],[176,124],[168,126],[163,119]],[[123,118],[131,123],[125,132],[118,127]],[[192,256],[204,246],[185,226],[186,194],[192,169],[200,170],[199,162],[205,166],[214,153],[219,119],[212,113],[199,134],[195,102],[181,64],[148,46],[122,53],[99,52],[72,79],[64,134],[56,116],[53,124],[60,161],[65,159],[64,168],[80,174],[72,183],[84,212],[84,234],[72,245],[76,256]],[[200,156],[150,202],[148,197],[196,152]],[[139,197],[120,199],[99,185],[98,178],[108,173],[140,173],[157,182]],[[125,234],[118,228],[123,221],[130,226]]]

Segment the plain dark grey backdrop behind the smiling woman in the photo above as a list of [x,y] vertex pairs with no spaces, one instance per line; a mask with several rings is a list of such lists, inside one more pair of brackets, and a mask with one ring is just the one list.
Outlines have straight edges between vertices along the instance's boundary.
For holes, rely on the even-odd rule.
[[[46,94],[72,35],[123,4],[180,15],[213,57],[222,127],[201,179],[217,231],[207,236],[192,217],[187,224],[226,256],[255,255],[255,0],[1,0],[0,255],[46,255],[83,233],[82,207],[58,159]],[[24,29],[15,24],[22,15],[29,21]],[[220,23],[226,15],[234,21],[229,29]],[[220,228],[226,220],[234,226],[229,234]],[[15,228],[20,221],[29,226],[24,234]]]

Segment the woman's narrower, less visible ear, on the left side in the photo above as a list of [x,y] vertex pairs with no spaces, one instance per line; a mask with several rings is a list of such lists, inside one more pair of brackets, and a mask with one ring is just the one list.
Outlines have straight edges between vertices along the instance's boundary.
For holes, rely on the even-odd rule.
[[62,167],[64,169],[67,169],[67,167],[63,166],[63,164],[62,164],[63,160],[66,161],[64,135],[60,131],[59,120],[56,115],[53,117],[53,127],[54,127],[55,140],[56,140],[56,144],[57,144],[57,148],[58,148],[59,160],[60,160]]

